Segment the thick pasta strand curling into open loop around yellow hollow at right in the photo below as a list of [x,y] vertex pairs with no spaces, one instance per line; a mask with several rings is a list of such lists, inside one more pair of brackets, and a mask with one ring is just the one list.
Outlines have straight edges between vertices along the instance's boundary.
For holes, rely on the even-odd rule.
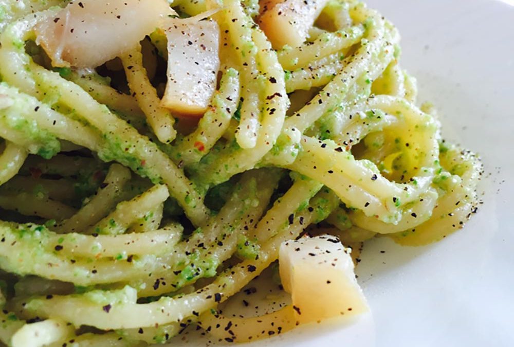
[[[368,102],[366,107],[372,105],[381,105],[383,111],[401,115],[402,121],[396,123],[396,120],[376,112],[368,113],[364,119],[362,116],[350,115],[348,117],[351,119],[350,124],[357,126],[358,129],[355,132],[349,131],[347,134],[356,135],[356,137],[355,140],[348,138],[347,141],[341,142],[346,145],[351,142],[357,143],[367,132],[374,131],[377,125],[404,129],[403,134],[407,139],[401,141],[410,143],[406,151],[414,152],[416,160],[412,165],[414,168],[411,170],[412,177],[415,176],[415,178],[412,178],[411,183],[388,182],[372,163],[370,166],[370,163],[356,161],[351,153],[333,142],[316,141],[310,138],[302,139],[303,151],[290,167],[310,177],[313,175],[322,177],[318,179],[334,189],[348,206],[362,210],[365,215],[378,216],[383,222],[397,224],[402,215],[408,212],[400,212],[398,208],[415,200],[421,192],[429,189],[431,184],[435,171],[433,165],[438,155],[436,124],[428,115],[395,99],[376,98]],[[342,180],[343,177],[347,178]],[[369,177],[369,179],[365,181],[366,183],[360,184],[352,177]],[[433,194],[424,196],[424,199],[428,200],[426,203],[430,203],[429,201],[434,198]]]

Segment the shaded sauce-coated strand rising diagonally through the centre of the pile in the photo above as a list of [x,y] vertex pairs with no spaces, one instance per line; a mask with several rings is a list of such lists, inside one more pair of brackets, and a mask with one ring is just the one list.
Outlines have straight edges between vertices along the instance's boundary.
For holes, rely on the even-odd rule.
[[[222,210],[186,242],[177,245],[168,260],[169,268],[153,272],[143,284],[140,281],[128,284],[141,287],[140,295],[159,295],[193,284],[201,277],[213,276],[219,264],[228,260],[236,250],[248,248],[247,252],[240,253],[247,257],[255,256],[253,247],[246,245],[248,239],[244,235],[253,227],[251,221],[259,220],[269,202],[280,178],[276,174],[274,170],[245,173]],[[257,190],[264,182],[269,186]]]

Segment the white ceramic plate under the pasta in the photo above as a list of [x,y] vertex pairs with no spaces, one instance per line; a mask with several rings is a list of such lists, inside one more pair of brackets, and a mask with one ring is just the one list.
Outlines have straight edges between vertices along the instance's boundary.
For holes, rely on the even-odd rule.
[[[357,273],[372,314],[251,346],[514,345],[514,7],[494,0],[368,4],[399,28],[402,66],[418,80],[419,101],[438,108],[445,137],[482,156],[484,205],[434,245],[366,244]],[[196,344],[205,342],[188,345]]]

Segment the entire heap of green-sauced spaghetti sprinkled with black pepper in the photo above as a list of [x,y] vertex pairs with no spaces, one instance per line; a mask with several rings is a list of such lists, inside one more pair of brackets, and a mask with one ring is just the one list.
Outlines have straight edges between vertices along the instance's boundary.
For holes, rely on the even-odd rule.
[[[480,160],[415,105],[398,32],[375,10],[179,0],[146,13],[141,3],[114,1],[96,17],[94,1],[0,4],[3,343],[144,345],[190,324],[229,342],[273,322],[286,331],[290,306],[259,319],[255,335],[256,318],[229,333],[215,311],[282,242],[310,226],[347,245],[381,234],[423,245],[476,212]],[[74,32],[75,15],[97,22]],[[102,25],[123,44],[81,47],[76,38],[94,41]],[[131,25],[133,45],[108,32]],[[180,39],[192,46],[180,66],[196,72],[167,69],[182,52],[173,38],[201,30],[214,30],[201,45]],[[95,61],[108,53],[87,66],[73,58],[83,49],[98,50]],[[211,62],[208,78],[195,61]],[[162,103],[177,82],[197,105]]]

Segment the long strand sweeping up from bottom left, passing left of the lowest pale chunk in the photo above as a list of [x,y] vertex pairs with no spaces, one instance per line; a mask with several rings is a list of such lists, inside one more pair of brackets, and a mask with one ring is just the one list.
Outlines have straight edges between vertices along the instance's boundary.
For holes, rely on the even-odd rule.
[[[303,230],[303,222],[310,223],[319,217],[324,219],[326,214],[317,216],[317,211],[319,209],[332,211],[336,203],[337,199],[322,192],[320,196],[311,200],[310,209],[307,208],[295,216],[291,224],[262,246],[259,259],[245,260],[236,266],[229,267],[212,284],[192,294],[177,298],[163,297],[159,301],[149,304],[136,304],[135,289],[127,287],[96,302],[91,300],[94,298],[94,292],[86,297],[53,296],[52,298],[32,299],[23,307],[23,312],[37,314],[40,317],[46,317],[50,312],[56,312],[58,317],[72,322],[76,326],[85,324],[103,329],[135,328],[180,321],[185,317],[194,316],[195,312],[205,312],[213,308],[218,302],[225,301],[240,290],[278,258],[280,244],[291,237],[298,236]],[[248,268],[252,271],[249,271]],[[106,306],[108,307],[107,315],[105,315],[104,308]],[[80,309],[83,314],[75,315],[75,309]]]

